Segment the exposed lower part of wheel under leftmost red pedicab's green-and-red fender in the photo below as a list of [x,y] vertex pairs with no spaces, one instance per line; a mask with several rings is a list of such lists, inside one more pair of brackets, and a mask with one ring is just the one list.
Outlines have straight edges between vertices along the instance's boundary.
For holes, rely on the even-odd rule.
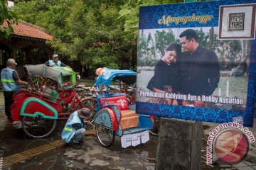
[[41,138],[50,135],[55,130],[57,120],[45,119],[41,115],[35,118],[24,116],[21,120],[23,131],[29,137]]

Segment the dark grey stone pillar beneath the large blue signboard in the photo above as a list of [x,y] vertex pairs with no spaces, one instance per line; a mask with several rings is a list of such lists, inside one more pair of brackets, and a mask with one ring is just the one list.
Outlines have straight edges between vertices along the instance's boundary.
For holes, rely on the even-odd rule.
[[202,122],[161,118],[156,170],[201,169]]

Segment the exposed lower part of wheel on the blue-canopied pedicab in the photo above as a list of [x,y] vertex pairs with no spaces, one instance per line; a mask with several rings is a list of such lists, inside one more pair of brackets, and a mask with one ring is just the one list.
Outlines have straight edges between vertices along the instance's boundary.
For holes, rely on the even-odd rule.
[[97,139],[103,147],[110,147],[114,143],[115,132],[105,127],[96,125]]

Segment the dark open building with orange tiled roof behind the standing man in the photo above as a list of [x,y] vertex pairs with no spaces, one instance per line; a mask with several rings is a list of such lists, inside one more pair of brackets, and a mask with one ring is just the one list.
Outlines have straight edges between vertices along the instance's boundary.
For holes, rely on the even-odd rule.
[[[3,26],[7,24],[4,23]],[[11,27],[14,33],[11,33],[9,39],[0,39],[0,71],[6,67],[9,58],[16,60],[16,69],[22,74],[24,64],[41,64],[53,55],[53,49],[46,44],[53,36],[43,28],[21,20]]]

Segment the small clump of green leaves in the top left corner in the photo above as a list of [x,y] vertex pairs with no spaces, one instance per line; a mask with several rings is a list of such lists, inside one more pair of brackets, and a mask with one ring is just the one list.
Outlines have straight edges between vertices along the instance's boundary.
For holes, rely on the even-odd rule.
[[[6,27],[3,26],[4,21],[7,23]],[[7,7],[7,1],[0,0],[0,39],[7,39],[11,33],[14,33],[13,28],[11,28],[11,24],[17,23],[17,21],[18,18],[14,11]]]

